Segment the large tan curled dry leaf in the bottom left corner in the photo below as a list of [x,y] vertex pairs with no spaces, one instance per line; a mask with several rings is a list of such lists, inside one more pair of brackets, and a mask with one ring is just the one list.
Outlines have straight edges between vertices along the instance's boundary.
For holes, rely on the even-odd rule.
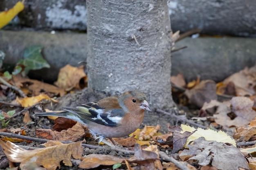
[[25,150],[9,141],[5,144],[4,141],[0,140],[0,145],[9,161],[20,163],[21,169],[31,163],[36,163],[38,166],[55,170],[57,167],[61,167],[61,161],[65,166],[72,166],[71,156],[75,159],[80,159],[82,156],[83,147],[81,143],[76,142],[36,150]]

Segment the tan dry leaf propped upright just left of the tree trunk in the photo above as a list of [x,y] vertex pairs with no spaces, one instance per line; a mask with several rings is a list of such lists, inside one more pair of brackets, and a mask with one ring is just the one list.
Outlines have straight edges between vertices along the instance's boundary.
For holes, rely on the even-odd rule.
[[[83,84],[80,84],[81,79],[83,80]],[[58,80],[54,84],[66,91],[70,91],[72,88],[82,89],[87,87],[87,76],[84,73],[84,66],[73,67],[67,64],[61,68],[58,74]]]

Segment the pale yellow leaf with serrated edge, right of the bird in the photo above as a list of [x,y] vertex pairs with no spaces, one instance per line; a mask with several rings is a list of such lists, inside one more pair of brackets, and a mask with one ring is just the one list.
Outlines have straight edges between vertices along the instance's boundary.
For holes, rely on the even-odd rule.
[[198,139],[200,137],[204,137],[205,140],[207,140],[207,141],[217,141],[217,142],[229,143],[229,144],[236,146],[236,141],[234,139],[231,139],[231,137],[229,135],[227,135],[227,133],[225,133],[221,130],[216,132],[215,130],[211,130],[211,129],[207,129],[207,130],[202,129],[202,128],[195,129],[191,126],[186,126],[184,124],[182,124],[181,127],[182,127],[181,133],[183,133],[185,131],[194,132],[196,130],[186,140],[185,147],[187,147],[187,145],[191,141],[194,141],[195,139]]

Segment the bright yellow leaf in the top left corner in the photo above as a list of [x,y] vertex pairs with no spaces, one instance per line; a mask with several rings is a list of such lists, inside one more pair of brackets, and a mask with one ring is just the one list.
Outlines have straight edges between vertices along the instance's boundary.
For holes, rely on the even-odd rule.
[[20,11],[24,9],[22,2],[17,2],[15,6],[8,11],[2,11],[0,13],[0,29],[7,25]]

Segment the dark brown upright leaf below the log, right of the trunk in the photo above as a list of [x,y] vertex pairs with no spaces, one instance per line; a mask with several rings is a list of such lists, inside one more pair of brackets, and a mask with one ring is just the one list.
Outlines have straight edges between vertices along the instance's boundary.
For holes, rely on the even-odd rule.
[[203,80],[194,88],[185,91],[189,98],[189,103],[201,108],[204,102],[210,102],[217,99],[216,83],[212,80]]

